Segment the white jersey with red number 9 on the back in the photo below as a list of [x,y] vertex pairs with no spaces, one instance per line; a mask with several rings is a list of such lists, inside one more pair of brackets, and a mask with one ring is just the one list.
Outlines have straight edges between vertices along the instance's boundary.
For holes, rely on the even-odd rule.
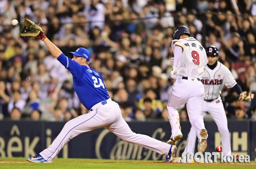
[[[172,49],[182,47],[182,55],[178,60],[177,76],[202,79],[204,67],[208,60],[206,51],[195,38],[185,38],[172,41]],[[175,63],[174,63],[175,65]]]

